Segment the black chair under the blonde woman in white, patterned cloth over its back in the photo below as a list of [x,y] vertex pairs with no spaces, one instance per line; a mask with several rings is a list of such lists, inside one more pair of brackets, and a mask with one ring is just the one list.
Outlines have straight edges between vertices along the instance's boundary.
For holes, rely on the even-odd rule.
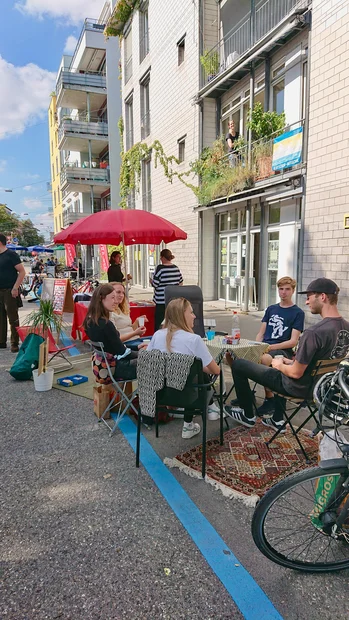
[[[152,351],[148,353],[151,355]],[[143,353],[147,355],[147,353]],[[165,353],[164,355],[170,355]],[[207,376],[207,375],[206,375]],[[186,384],[183,390],[176,390],[172,387],[165,385],[161,390],[156,392],[156,406],[155,406],[155,430],[156,437],[159,437],[159,424],[158,414],[161,409],[167,407],[180,407],[187,413],[193,415],[201,415],[202,417],[202,477],[205,478],[206,473],[206,422],[207,422],[207,403],[208,392],[211,390],[216,377],[213,379],[210,377],[209,382],[205,383],[205,376],[202,369],[202,360],[195,358]],[[222,385],[222,381],[220,381]],[[220,393],[220,444],[223,445],[223,396]],[[138,415],[137,420],[137,442],[136,442],[136,467],[139,467],[140,457],[140,439],[141,439],[141,415]]]

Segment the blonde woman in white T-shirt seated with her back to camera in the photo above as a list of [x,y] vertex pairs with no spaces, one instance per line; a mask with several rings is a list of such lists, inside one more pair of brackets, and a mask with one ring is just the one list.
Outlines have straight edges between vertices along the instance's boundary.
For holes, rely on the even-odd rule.
[[[165,310],[164,327],[155,332],[148,345],[148,351],[158,349],[163,353],[195,355],[202,360],[205,373],[219,375],[218,364],[214,361],[200,336],[194,334],[194,320],[195,314],[187,299],[184,297],[172,299]],[[219,418],[219,409],[216,405],[209,406],[208,418],[209,420]],[[192,420],[192,415],[184,414],[183,439],[190,439],[200,433],[199,424]]]

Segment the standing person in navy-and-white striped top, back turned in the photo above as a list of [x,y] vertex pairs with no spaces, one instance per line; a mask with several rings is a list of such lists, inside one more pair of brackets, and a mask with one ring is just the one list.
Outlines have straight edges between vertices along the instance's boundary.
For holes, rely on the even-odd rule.
[[177,265],[172,264],[174,256],[169,249],[161,250],[160,261],[151,284],[154,287],[155,302],[155,331],[160,329],[161,323],[165,318],[165,288],[169,285],[183,284],[183,276]]

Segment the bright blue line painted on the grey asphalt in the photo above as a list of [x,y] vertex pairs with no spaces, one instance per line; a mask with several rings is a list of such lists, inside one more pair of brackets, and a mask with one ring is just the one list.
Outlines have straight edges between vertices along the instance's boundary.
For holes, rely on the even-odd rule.
[[[134,422],[125,416],[119,428],[136,451],[137,427]],[[283,620],[262,588],[241,565],[143,435],[141,462],[244,618]]]

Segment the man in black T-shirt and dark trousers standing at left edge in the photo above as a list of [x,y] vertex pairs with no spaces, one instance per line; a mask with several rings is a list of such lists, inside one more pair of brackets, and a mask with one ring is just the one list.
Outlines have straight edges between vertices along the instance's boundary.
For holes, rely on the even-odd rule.
[[6,237],[0,233],[0,349],[7,346],[7,319],[11,327],[11,353],[17,353],[19,336],[19,287],[25,277],[24,266],[16,252],[6,247]]

